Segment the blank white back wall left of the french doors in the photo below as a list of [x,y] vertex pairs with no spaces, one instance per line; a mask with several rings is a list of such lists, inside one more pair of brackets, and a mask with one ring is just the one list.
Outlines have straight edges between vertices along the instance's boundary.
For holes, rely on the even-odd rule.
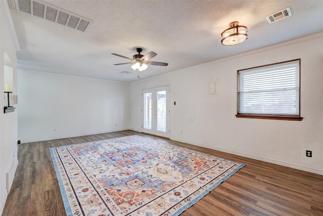
[[18,68],[22,143],[129,128],[129,84]]

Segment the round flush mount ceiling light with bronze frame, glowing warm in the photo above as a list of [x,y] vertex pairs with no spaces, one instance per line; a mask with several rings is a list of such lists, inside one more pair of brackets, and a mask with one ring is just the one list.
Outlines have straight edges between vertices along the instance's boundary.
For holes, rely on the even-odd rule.
[[248,28],[244,25],[239,25],[239,22],[234,21],[229,24],[230,28],[227,28],[221,33],[221,43],[225,46],[232,46],[240,44],[248,39]]

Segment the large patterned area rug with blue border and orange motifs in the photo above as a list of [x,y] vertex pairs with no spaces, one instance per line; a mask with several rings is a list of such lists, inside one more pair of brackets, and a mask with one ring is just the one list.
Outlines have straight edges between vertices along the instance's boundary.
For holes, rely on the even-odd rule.
[[137,135],[50,153],[67,215],[179,215],[244,166]]

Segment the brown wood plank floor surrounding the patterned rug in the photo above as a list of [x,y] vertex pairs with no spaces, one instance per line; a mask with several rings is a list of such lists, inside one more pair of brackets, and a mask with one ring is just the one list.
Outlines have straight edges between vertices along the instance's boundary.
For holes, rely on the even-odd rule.
[[[48,148],[134,134],[162,139],[123,131],[22,144],[3,216],[66,215]],[[182,215],[323,215],[323,176],[168,141],[246,164]]]

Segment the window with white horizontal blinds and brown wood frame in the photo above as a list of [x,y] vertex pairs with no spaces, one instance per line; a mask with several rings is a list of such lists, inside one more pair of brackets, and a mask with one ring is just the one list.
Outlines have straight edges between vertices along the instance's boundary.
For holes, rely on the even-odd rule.
[[237,117],[301,120],[300,59],[238,70]]

